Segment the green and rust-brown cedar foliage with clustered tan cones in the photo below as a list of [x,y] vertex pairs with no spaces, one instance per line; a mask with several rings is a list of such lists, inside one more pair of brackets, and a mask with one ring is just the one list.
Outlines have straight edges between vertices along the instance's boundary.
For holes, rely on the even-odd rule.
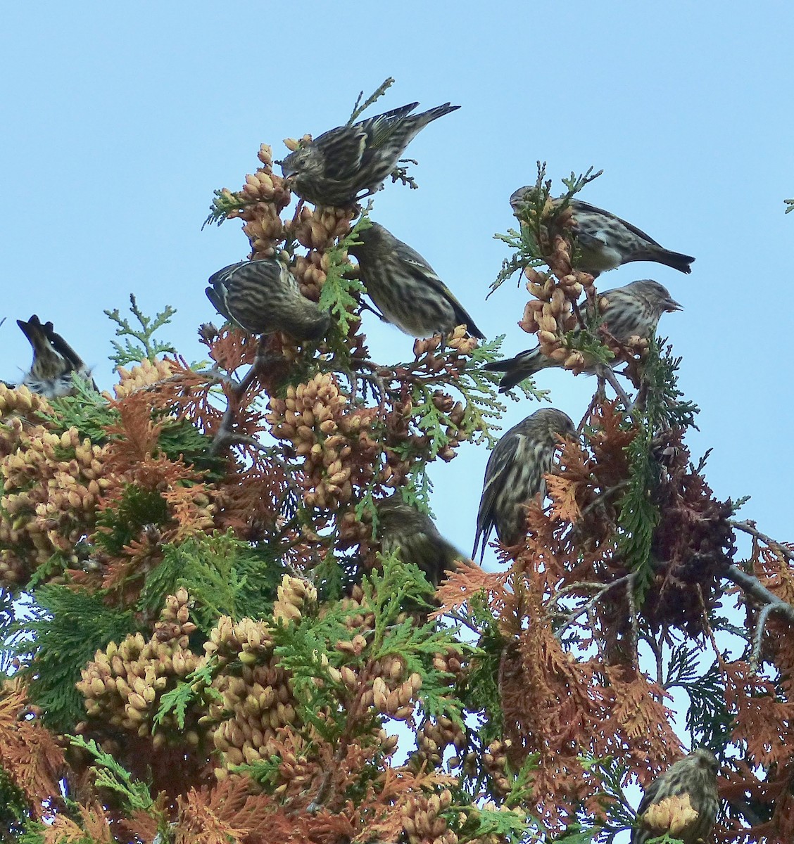
[[[323,343],[205,325],[212,363],[188,365],[154,337],[171,309],[133,299],[133,321],[109,314],[114,396],[0,386],[3,839],[612,841],[624,788],[683,752],[672,689],[723,764],[715,841],[794,839],[794,550],[692,463],[670,347],[617,348],[586,319],[545,338],[574,371],[620,355],[633,395],[599,378],[525,543],[433,595],[378,553],[373,500],[427,509],[428,466],[493,443],[498,341],[459,328],[370,360],[346,253],[367,214],[285,214],[258,158],[209,219],[240,219],[252,256],[286,251],[334,317]],[[529,331],[543,303],[595,301],[542,170],[538,188],[494,285],[525,273]]]

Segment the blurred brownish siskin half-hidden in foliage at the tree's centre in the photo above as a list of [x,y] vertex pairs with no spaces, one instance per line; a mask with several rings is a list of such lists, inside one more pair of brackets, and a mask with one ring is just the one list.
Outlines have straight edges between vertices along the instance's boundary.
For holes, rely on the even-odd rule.
[[444,579],[445,571],[457,568],[456,560],[466,556],[438,533],[432,519],[397,491],[378,501],[378,538],[383,554],[400,550],[404,563],[414,563],[434,587]]

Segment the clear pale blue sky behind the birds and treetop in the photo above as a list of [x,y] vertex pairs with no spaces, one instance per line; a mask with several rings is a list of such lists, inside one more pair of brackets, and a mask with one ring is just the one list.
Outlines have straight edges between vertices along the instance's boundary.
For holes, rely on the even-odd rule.
[[[399,12],[396,11],[399,8]],[[460,111],[411,144],[419,191],[389,186],[378,219],[430,261],[489,337],[516,326],[526,293],[487,302],[512,225],[508,197],[536,160],[558,179],[605,170],[584,198],[697,257],[684,276],[634,264],[601,278],[666,284],[663,317],[699,403],[698,457],[717,495],[753,495],[745,517],[790,527],[791,62],[784,3],[15,3],[0,30],[3,366],[30,364],[14,320],[38,313],[111,383],[105,308],[135,291],[178,308],[168,332],[201,355],[210,273],[247,252],[235,222],[201,230],[212,191],[237,189],[261,142],[344,122],[360,89],[397,83],[378,109],[451,100]],[[737,11],[741,9],[741,11]],[[371,315],[369,315],[371,316]],[[366,317],[365,317],[366,318]],[[373,356],[411,338],[367,324]],[[574,419],[592,379],[538,378]],[[511,404],[505,427],[537,408]],[[439,527],[468,551],[487,461],[465,446],[434,470]]]

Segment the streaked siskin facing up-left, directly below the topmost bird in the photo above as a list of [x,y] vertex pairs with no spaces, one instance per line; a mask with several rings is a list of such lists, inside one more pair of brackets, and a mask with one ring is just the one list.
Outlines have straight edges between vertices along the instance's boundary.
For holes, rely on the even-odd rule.
[[485,336],[419,252],[378,223],[356,237],[361,243],[350,252],[383,319],[413,337],[447,334],[458,325],[476,338]]

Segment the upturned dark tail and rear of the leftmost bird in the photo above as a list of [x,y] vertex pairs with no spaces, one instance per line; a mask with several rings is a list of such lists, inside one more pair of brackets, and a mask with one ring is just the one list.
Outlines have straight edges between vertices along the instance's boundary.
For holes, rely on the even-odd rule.
[[33,347],[30,372],[21,381],[30,392],[46,398],[71,396],[75,389],[72,380],[75,374],[97,389],[88,366],[66,340],[52,330],[52,322],[42,323],[34,314],[28,322],[18,319],[17,325]]

